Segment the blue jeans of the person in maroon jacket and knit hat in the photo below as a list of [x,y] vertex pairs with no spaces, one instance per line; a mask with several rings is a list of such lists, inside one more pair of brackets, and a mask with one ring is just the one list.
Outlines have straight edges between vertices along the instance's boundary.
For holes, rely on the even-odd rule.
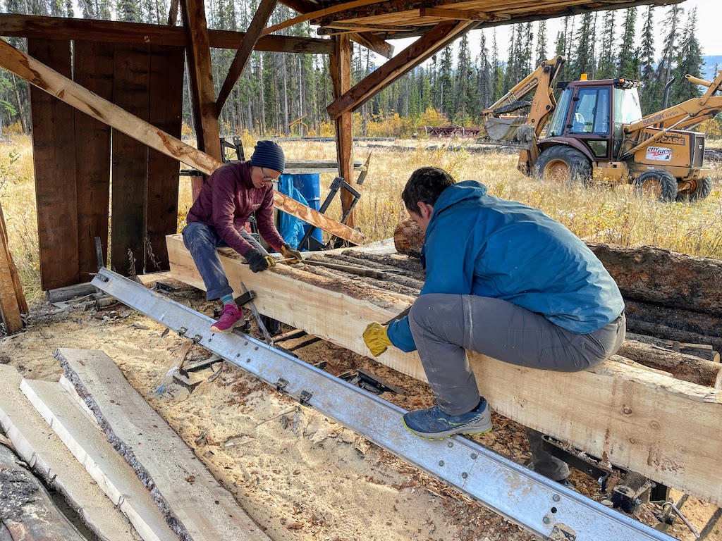
[[[240,230],[239,233],[256,250],[263,255],[268,255],[266,249],[258,244],[251,234],[243,230]],[[216,252],[216,248],[228,245],[215,228],[200,221],[191,221],[183,228],[183,244],[191,252],[193,263],[196,263],[196,268],[203,278],[206,286],[206,299],[212,301],[232,294],[233,288],[228,283],[218,252]]]

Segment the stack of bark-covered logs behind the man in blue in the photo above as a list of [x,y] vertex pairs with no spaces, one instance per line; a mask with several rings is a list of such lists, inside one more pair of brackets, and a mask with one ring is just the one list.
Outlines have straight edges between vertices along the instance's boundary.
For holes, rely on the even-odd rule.
[[[414,221],[404,220],[393,242],[400,254],[419,258],[424,234]],[[619,356],[719,389],[722,261],[651,246],[588,246],[625,299],[627,340]]]

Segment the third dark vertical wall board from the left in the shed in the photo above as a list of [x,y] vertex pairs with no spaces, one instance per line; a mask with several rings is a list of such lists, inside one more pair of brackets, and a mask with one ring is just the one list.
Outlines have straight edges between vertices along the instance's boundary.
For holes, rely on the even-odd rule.
[[[116,45],[113,59],[113,103],[148,120],[150,50],[144,45]],[[113,130],[113,209],[110,264],[117,273],[142,273],[148,195],[148,147]],[[131,261],[132,258],[135,260]]]

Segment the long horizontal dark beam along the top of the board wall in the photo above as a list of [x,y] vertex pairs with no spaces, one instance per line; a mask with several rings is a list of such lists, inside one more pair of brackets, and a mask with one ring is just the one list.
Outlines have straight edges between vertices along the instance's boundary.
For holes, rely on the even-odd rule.
[[[45,40],[74,40],[82,37],[100,43],[188,46],[188,32],[182,27],[6,13],[0,13],[0,35]],[[245,32],[208,31],[209,44],[213,48],[238,49],[238,43],[244,37]],[[269,35],[258,40],[256,50],[330,55],[334,52],[334,44],[331,40],[318,38]]]

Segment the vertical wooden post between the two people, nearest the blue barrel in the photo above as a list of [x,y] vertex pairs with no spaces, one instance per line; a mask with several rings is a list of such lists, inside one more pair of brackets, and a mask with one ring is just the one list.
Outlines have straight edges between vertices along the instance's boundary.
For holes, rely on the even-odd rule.
[[[329,58],[331,67],[331,81],[334,83],[334,99],[338,99],[351,88],[351,42],[347,35],[334,36],[335,51]],[[336,120],[336,158],[339,160],[339,174],[346,182],[353,182],[353,132],[351,111],[339,115]],[[342,214],[344,214],[354,201],[352,194],[341,190]],[[354,227],[356,220],[351,211],[346,219],[346,225]]]

